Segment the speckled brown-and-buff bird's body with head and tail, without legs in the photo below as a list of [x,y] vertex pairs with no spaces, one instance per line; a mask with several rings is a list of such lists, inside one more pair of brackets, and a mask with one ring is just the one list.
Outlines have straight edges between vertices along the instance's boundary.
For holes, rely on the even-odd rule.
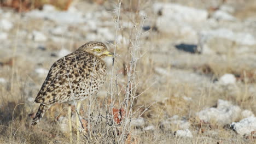
[[[96,49],[101,52],[96,52]],[[96,94],[106,80],[106,65],[102,58],[112,55],[106,52],[107,47],[103,43],[89,42],[57,60],[35,99],[40,106],[32,125],[36,125],[55,103],[83,100]]]

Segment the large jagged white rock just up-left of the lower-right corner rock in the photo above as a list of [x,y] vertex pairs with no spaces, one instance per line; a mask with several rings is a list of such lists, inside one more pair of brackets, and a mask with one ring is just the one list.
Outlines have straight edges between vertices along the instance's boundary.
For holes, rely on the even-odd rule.
[[230,124],[240,117],[239,106],[232,105],[230,101],[218,100],[217,107],[210,107],[197,113],[199,119],[205,123],[214,122],[217,125]]

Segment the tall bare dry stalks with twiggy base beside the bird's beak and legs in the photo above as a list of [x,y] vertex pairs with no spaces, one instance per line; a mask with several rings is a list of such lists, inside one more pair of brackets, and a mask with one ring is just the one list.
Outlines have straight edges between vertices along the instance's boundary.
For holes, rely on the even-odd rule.
[[[114,44],[110,44],[114,47],[114,57],[110,72],[108,94],[105,95],[101,104],[98,103],[98,96],[89,95],[88,105],[85,106],[87,110],[84,112],[84,115],[79,116],[81,123],[83,123],[83,119],[86,119],[85,123],[78,128],[83,131],[86,143],[102,143],[106,141],[110,143],[127,143],[127,141],[131,141],[132,129],[130,122],[142,107],[134,109],[135,100],[141,95],[136,93],[139,80],[136,74],[136,66],[142,57],[141,53],[139,53],[141,49],[140,38],[143,34],[142,28],[147,17],[143,16],[140,22],[136,22],[139,25],[135,24],[133,26],[135,33],[133,33],[132,39],[130,39],[131,47],[128,49],[130,62],[125,72],[127,74],[126,86],[124,87],[125,94],[122,95],[120,94],[122,89],[119,89],[119,77],[117,75],[118,67],[120,67],[117,63],[119,59],[118,50],[125,50],[118,41],[118,35],[121,33],[120,16],[122,1],[119,0],[116,5],[117,8],[112,11],[113,17],[115,17],[115,41]],[[145,111],[140,113],[140,115]],[[77,113],[79,112],[77,111]]]

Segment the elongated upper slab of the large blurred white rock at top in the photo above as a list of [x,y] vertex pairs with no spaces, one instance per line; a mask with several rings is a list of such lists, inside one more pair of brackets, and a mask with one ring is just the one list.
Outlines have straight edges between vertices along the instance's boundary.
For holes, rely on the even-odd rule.
[[205,21],[208,17],[206,10],[172,3],[156,3],[153,5],[153,10],[155,13],[161,11],[162,16],[167,19],[180,22],[200,22]]

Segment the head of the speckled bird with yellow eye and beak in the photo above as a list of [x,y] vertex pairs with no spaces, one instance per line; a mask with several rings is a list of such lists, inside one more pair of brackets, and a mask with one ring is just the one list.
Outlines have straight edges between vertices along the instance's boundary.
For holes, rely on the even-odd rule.
[[107,46],[97,41],[88,42],[78,49],[79,51],[85,51],[98,57],[113,56],[114,53],[109,52]]

